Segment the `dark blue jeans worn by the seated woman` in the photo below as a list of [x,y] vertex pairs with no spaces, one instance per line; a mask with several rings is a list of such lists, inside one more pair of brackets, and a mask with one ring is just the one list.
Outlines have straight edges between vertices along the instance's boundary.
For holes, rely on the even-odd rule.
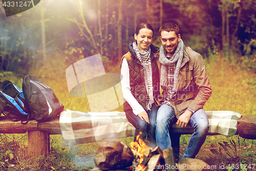
[[147,124],[145,120],[141,120],[139,116],[135,115],[132,110],[126,111],[125,115],[130,123],[136,128],[134,141],[139,132],[142,132],[140,138],[145,142],[148,140],[150,143],[148,146],[152,148],[156,147],[156,117],[158,108],[154,103],[152,104],[151,110],[146,111],[150,124]]

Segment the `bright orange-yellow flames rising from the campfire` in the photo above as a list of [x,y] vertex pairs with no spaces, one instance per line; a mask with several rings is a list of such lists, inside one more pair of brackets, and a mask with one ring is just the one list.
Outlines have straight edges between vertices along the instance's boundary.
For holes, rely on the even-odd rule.
[[140,135],[142,135],[142,132],[139,133],[139,135],[137,135],[136,137],[136,141],[133,141],[130,143],[131,147],[132,147],[132,152],[135,156],[138,156],[139,157],[139,164],[138,166],[136,167],[137,168],[144,168],[145,166],[144,165],[141,165],[141,162],[143,161],[144,159],[144,151],[147,149],[147,148],[150,148],[151,150],[153,150],[150,146],[147,146],[146,143],[141,139],[139,138]]

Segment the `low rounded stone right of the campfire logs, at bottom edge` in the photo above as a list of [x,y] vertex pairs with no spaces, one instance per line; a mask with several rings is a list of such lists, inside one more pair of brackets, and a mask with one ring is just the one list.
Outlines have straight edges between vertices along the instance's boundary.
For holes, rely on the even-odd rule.
[[179,171],[210,171],[210,166],[202,160],[183,158],[178,162]]

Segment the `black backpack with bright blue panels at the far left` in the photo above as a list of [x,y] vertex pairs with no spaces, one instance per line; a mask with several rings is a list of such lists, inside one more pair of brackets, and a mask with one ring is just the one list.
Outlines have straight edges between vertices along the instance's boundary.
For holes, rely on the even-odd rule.
[[[8,80],[0,84],[0,109],[1,113],[9,116],[13,121],[22,120],[22,124],[27,124],[28,120],[32,119],[22,90]],[[27,122],[24,123],[23,120]]]

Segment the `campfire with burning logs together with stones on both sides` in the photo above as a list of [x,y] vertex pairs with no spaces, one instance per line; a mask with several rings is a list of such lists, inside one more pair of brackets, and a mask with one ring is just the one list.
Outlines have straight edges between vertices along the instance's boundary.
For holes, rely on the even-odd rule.
[[[96,167],[90,171],[210,171],[209,165],[199,159],[183,158],[175,164],[172,148],[162,151],[156,146],[152,149],[139,138],[140,135],[141,133],[135,142],[131,142],[132,148],[121,141],[101,142],[94,157]],[[194,169],[195,167],[197,168]]]

